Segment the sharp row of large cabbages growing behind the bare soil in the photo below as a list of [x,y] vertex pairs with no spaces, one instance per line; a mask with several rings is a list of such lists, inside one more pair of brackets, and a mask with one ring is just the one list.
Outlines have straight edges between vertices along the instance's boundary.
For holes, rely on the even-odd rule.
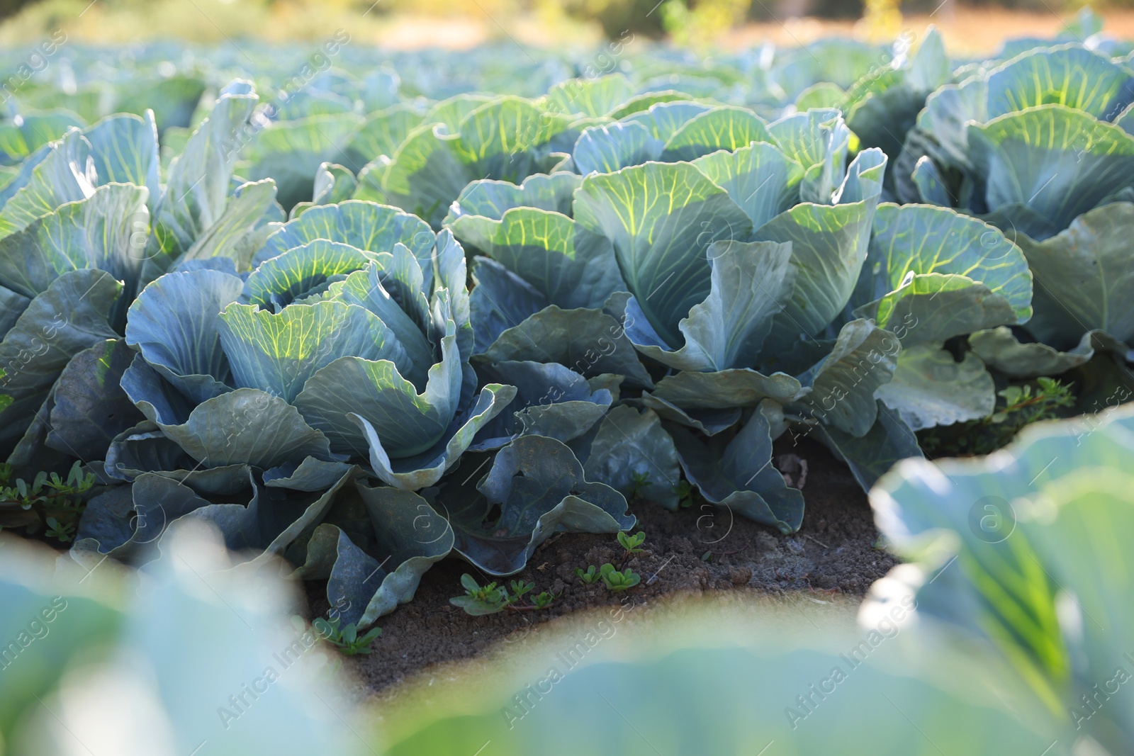
[[248,82],[168,167],[150,113],[22,117],[69,130],[0,190],[0,451],[98,472],[79,560],[205,518],[370,623],[450,553],[514,574],[553,533],[632,527],[634,493],[677,508],[683,477],[790,533],[785,433],[869,487],[1008,379],[1114,396],[1123,61],[953,73],[931,33],[801,96],[765,119],[611,75],[398,104],[397,146],[306,193],[248,160],[277,128]]

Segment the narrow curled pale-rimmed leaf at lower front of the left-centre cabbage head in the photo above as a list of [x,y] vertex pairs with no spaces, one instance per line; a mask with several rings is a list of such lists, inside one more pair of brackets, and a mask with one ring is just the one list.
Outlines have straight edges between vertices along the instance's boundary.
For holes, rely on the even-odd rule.
[[514,387],[498,383],[485,385],[472,405],[449,423],[440,441],[420,455],[401,459],[391,459],[370,421],[353,413],[348,417],[358,424],[366,436],[370,466],[374,474],[387,485],[403,491],[418,491],[440,481],[459,461],[460,455],[473,443],[476,433],[499,415],[515,396]]

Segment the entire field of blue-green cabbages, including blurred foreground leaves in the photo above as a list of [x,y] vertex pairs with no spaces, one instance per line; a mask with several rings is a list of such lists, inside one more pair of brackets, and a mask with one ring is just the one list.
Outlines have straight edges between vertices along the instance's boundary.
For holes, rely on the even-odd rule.
[[[56,32],[0,61],[0,526],[60,560],[3,562],[0,594],[26,608],[0,609],[5,634],[67,595],[81,609],[52,615],[87,628],[69,647],[161,669],[223,646],[202,652],[222,674],[254,652],[177,563],[221,544],[232,561],[197,567],[228,576],[218,597],[244,605],[253,574],[306,581],[352,653],[446,559],[471,574],[467,614],[535,612],[562,591],[509,578],[561,567],[533,557],[549,540],[609,534],[621,563],[579,585],[633,596],[657,577],[626,567],[641,520],[692,507],[792,536],[809,511],[780,452],[822,444],[906,562],[860,620],[922,618],[906,662],[854,677],[894,708],[795,702],[843,687],[833,653],[796,659],[804,682],[787,655],[705,646],[587,668],[539,706],[501,694],[389,753],[1129,751],[1134,425],[1093,416],[1134,396],[1134,44],[1098,18],[980,60],[930,27],[711,58],[629,34],[384,53],[348,31],[116,49]],[[1075,419],[997,451],[1052,418]],[[220,541],[184,536],[201,524]],[[151,612],[83,584],[119,564],[184,595]],[[86,753],[20,730],[7,695],[46,696],[61,659],[14,678],[25,660],[3,657],[0,754]],[[183,716],[191,668],[159,676],[168,750],[101,753],[358,747],[345,720],[271,748],[206,737],[245,710],[218,694]],[[722,698],[666,713],[655,691],[694,669]],[[568,727],[595,690],[637,713]],[[314,716],[277,698],[249,717]],[[683,712],[692,741],[670,732]],[[894,734],[909,723],[916,745]]]

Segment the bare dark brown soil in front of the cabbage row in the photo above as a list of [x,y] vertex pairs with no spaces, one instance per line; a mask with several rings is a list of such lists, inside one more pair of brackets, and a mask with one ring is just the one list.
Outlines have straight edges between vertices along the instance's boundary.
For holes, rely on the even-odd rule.
[[[712,592],[812,592],[858,598],[894,567],[894,558],[874,547],[878,530],[866,494],[841,462],[806,439],[794,448],[790,439],[781,439],[776,453],[795,455],[807,464],[801,529],[781,535],[709,506],[676,512],[650,503],[637,506],[632,510],[638,517],[634,530],[645,532],[644,551],[625,562],[642,576],[642,583],[628,592],[636,603]],[[481,585],[490,578],[476,575],[462,559],[446,559],[425,574],[412,603],[378,621],[382,635],[372,653],[347,657],[347,666],[369,694],[379,694],[432,665],[481,655],[555,618],[615,606],[625,595],[608,591],[601,580],[583,585],[574,569],[604,562],[618,567],[621,559],[623,549],[611,535],[552,536],[524,571],[508,579],[523,578],[535,584],[535,593],[551,591],[559,598],[544,610],[485,617],[469,617],[449,598],[463,593],[463,572],[473,574]],[[325,614],[323,584],[308,583],[306,588],[313,615]]]

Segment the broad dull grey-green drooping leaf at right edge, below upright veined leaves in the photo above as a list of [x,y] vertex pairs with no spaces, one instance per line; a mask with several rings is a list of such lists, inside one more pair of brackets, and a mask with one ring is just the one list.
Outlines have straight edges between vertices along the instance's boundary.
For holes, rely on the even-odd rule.
[[1134,204],[1116,202],[1084,213],[1050,239],[1016,236],[1036,283],[1029,331],[1058,349],[1094,329],[1134,340],[1134,303],[1126,296],[1134,275],[1131,223]]

